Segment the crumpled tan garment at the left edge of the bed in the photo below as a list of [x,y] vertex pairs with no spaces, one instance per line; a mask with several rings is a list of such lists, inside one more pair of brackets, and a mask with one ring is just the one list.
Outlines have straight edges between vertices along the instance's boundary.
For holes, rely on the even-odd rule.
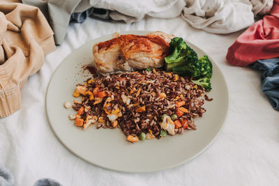
[[52,29],[38,8],[0,1],[0,118],[20,109],[20,88],[54,49]]

